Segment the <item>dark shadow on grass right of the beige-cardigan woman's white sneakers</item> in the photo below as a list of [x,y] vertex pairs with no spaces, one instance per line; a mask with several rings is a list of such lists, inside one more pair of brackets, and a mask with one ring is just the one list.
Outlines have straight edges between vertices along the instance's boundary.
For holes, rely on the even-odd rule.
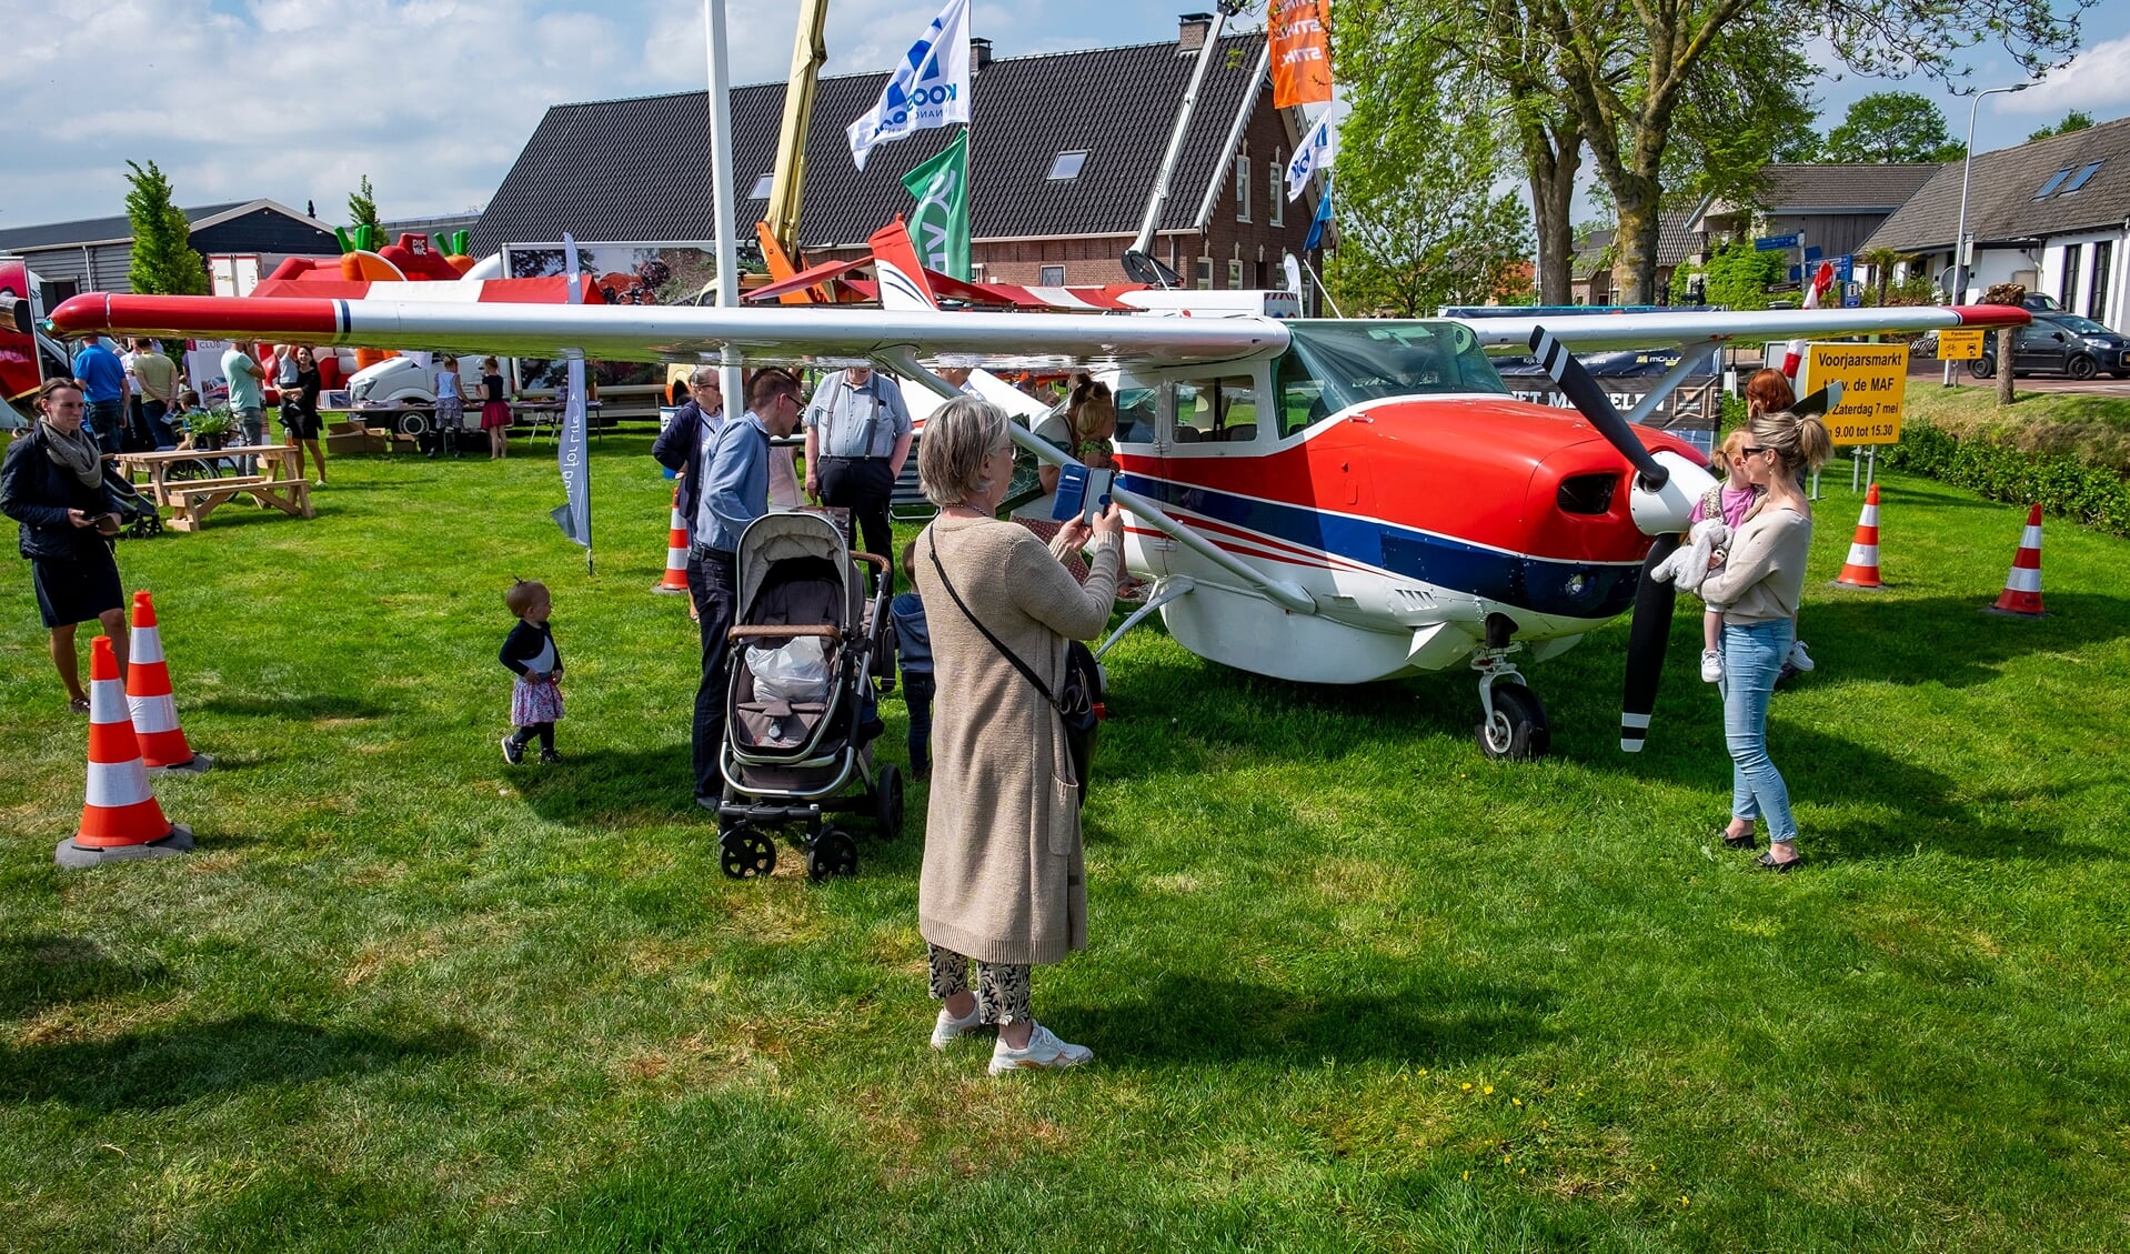
[[[1514,1054],[1544,1037],[1553,996],[1491,981],[1395,996],[1304,996],[1240,979],[1165,975],[1127,1003],[1061,1007],[1076,1039],[1120,1067],[1274,1058],[1314,1065]],[[1078,1024],[1086,1024],[1080,1028]]]

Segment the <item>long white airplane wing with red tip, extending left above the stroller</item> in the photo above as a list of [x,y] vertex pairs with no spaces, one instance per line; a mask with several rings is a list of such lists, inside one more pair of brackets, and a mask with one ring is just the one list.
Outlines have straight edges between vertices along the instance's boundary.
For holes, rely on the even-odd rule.
[[379,296],[258,300],[92,292],[53,309],[49,321],[68,336],[147,334],[513,358],[577,349],[618,362],[718,360],[731,347],[750,366],[854,366],[912,351],[937,366],[997,370],[1216,364],[1278,353],[1289,343],[1287,326],[1269,317],[473,304]]

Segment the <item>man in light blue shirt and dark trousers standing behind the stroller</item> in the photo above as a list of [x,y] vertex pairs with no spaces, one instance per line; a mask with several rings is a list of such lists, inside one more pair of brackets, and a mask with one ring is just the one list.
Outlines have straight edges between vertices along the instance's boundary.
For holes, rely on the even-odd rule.
[[709,809],[724,794],[718,752],[724,745],[726,632],[739,615],[739,532],[769,513],[769,441],[799,428],[799,381],[784,370],[760,370],[748,381],[748,413],[714,436],[703,468],[703,502],[688,539],[688,594],[703,632],[703,683],[694,690],[694,798]]

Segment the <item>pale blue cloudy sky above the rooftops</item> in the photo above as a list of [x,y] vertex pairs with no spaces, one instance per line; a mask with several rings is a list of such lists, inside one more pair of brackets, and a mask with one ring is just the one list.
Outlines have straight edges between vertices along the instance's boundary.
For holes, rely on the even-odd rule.
[[[884,70],[939,0],[833,0],[826,72]],[[1176,15],[1212,4],[976,0],[997,55],[1176,38]],[[792,0],[728,4],[733,79],[782,79]],[[181,204],[266,196],[345,219],[362,175],[386,217],[481,207],[541,113],[569,100],[645,96],[705,81],[701,0],[87,0],[9,17],[0,98],[0,228],[124,213],[126,160],[153,158]],[[2026,138],[2068,109],[2130,115],[2130,4],[2085,15],[2085,53],[2019,96],[1983,102],[1979,151]],[[1975,83],[2017,81],[1975,57]],[[1968,102],[1938,98],[1955,138]],[[1887,87],[1825,81],[1821,130]],[[841,128],[850,119],[818,117]]]

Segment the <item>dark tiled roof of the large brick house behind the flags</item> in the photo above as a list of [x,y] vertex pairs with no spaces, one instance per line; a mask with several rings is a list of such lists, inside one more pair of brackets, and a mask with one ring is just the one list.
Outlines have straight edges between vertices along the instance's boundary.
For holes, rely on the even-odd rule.
[[[1172,181],[1163,228],[1189,228],[1235,119],[1261,36],[1220,40]],[[1131,234],[1161,168],[1193,68],[1174,43],[997,60],[969,94],[969,232],[976,238]],[[873,106],[886,75],[822,79],[807,136],[801,245],[854,245],[912,209],[901,179],[954,128],[880,145],[861,172],[843,128]],[[1269,96],[1265,98],[1269,102]],[[1269,106],[1269,104],[1267,104]],[[733,183],[741,238],[763,217],[748,198],[777,155],[784,83],[733,89]],[[1052,183],[1061,151],[1086,149]],[[1261,153],[1263,155],[1263,153]],[[1261,166],[1259,166],[1261,168]],[[709,241],[709,100],[703,92],[558,104],[503,179],[473,232],[475,253],[511,241]]]

